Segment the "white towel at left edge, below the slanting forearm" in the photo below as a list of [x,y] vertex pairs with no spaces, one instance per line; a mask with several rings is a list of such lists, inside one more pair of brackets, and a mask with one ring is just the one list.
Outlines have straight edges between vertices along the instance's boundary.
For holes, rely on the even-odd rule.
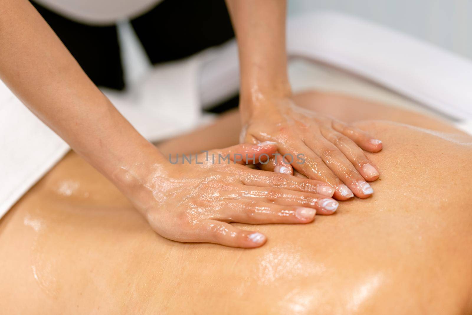
[[0,217],[69,146],[0,81]]

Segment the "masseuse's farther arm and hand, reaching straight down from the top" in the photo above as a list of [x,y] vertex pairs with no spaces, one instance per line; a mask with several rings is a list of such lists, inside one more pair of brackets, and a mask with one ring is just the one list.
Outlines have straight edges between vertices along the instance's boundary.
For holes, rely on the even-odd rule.
[[[286,1],[227,3],[239,48],[240,141],[277,143],[282,156],[263,170],[292,174],[295,169],[334,187],[338,200],[371,196],[373,189],[367,181],[378,179],[379,170],[362,149],[379,152],[381,141],[328,115],[303,109],[292,95],[285,48]],[[306,163],[288,161],[285,154],[303,154]]]

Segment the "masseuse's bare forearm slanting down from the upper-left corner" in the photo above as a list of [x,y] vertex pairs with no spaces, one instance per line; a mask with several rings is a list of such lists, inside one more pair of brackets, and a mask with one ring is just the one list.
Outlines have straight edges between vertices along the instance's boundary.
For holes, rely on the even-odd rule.
[[0,78],[119,188],[125,189],[129,172],[164,163],[25,0],[0,0]]

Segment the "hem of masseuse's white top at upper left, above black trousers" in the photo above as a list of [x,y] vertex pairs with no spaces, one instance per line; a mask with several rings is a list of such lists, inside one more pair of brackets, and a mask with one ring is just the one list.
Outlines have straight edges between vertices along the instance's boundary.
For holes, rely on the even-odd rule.
[[[138,16],[162,0],[35,0],[77,22],[110,25],[121,19]],[[222,0],[223,1],[223,0]]]

